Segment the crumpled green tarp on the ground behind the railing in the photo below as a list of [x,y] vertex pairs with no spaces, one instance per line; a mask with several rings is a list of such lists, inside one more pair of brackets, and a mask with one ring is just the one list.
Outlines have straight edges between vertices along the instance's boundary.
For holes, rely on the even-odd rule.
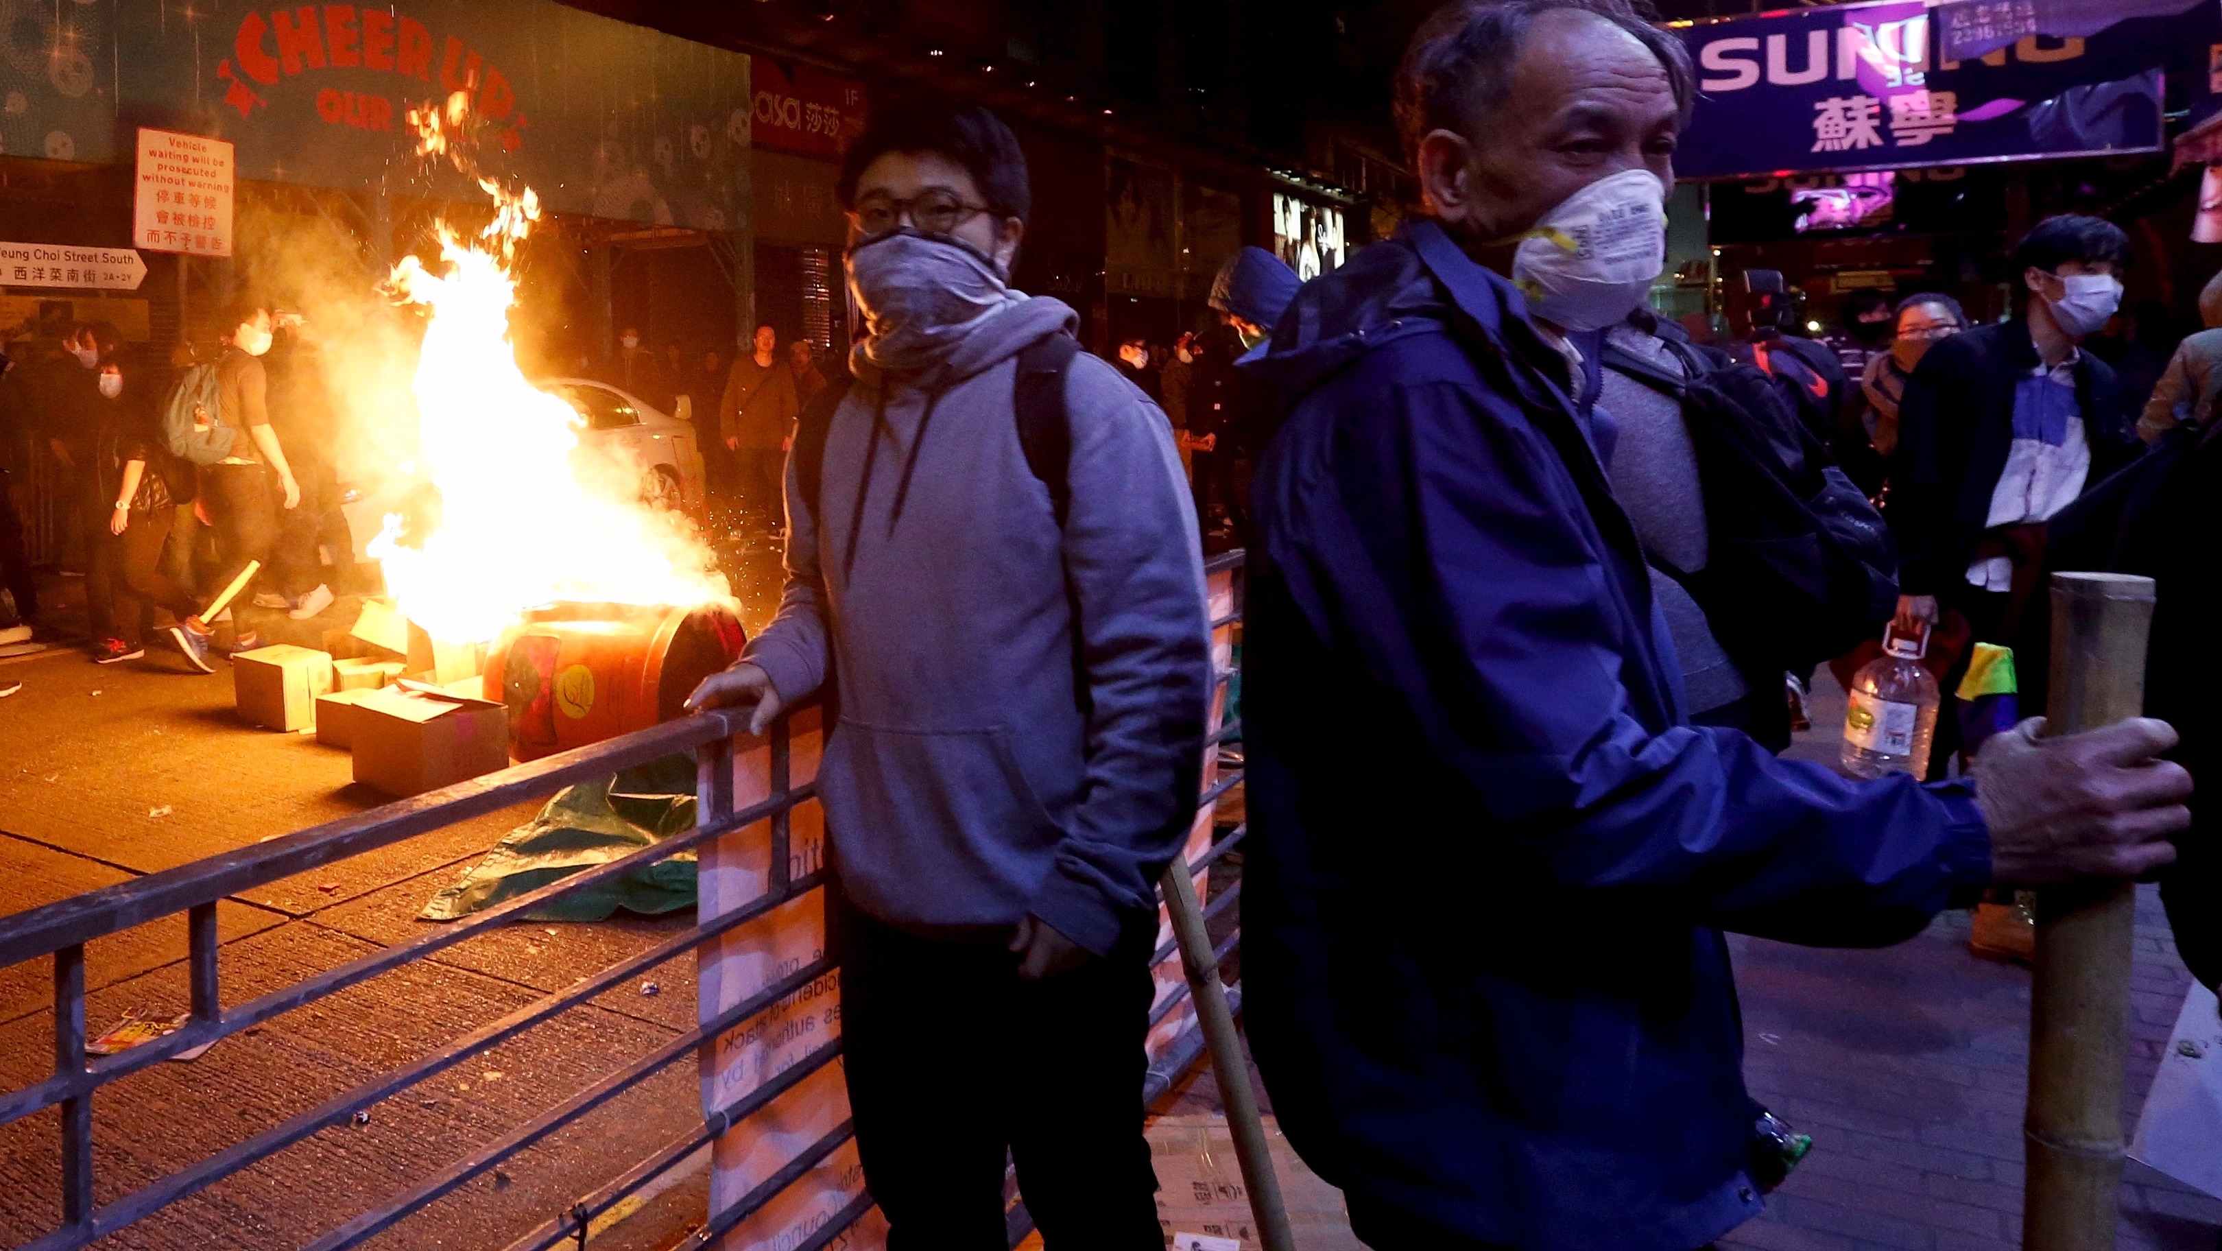
[[[667,755],[615,778],[564,787],[540,815],[509,831],[418,915],[458,920],[684,833],[693,829],[693,787],[691,755]],[[655,915],[693,904],[695,853],[682,851],[591,891],[564,895],[527,918],[607,920],[618,909]]]

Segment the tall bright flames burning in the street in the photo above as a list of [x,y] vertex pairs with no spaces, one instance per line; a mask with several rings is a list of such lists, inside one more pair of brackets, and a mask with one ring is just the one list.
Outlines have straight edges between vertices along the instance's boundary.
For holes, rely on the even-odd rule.
[[[420,151],[458,156],[449,136],[464,109],[462,93],[444,118],[411,109]],[[540,202],[531,189],[511,196],[484,178],[480,187],[496,218],[476,242],[442,224],[442,273],[413,256],[393,269],[393,291],[431,311],[413,391],[418,471],[438,491],[431,516],[389,513],[369,544],[400,611],[436,640],[491,642],[527,609],[558,600],[729,598],[689,522],[640,498],[649,469],[573,456],[584,422],[524,380],[509,344],[509,264]]]

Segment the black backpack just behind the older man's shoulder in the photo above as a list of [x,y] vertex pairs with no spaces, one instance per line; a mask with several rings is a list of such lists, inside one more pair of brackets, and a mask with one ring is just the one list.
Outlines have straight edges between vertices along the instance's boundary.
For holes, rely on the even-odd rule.
[[1704,493],[1706,567],[1669,569],[1713,638],[1753,671],[1793,671],[1871,638],[1898,611],[1898,544],[1775,382],[1662,340],[1686,378],[1607,342],[1607,369],[1682,402]]

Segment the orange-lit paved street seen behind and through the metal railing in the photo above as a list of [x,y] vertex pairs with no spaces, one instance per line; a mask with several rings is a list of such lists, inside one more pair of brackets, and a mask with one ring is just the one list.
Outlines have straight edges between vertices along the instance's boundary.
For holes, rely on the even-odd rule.
[[[382,802],[356,787],[344,751],[311,735],[240,724],[231,678],[189,675],[173,651],[96,667],[78,651],[0,662],[24,689],[0,700],[0,913],[184,864]],[[160,815],[158,815],[160,813]],[[273,882],[218,909],[224,1002],[238,1004],[429,922],[424,900],[529,807]],[[262,1131],[451,1038],[631,955],[687,918],[522,924],[442,951],[227,1040],[191,1064],[160,1064],[96,1100],[102,1202]],[[89,1022],[187,1007],[182,920],[89,949]],[[47,1075],[47,962],[0,969],[0,1087]],[[493,1053],[324,1131],[102,1247],[300,1247],[316,1233],[516,1129],[529,1115],[691,1029],[693,960],[638,989],[573,1009]],[[569,1209],[593,1184],[698,1122],[693,1064],[675,1064],[498,1178],[464,1187],[378,1247],[498,1249]],[[0,1129],[0,1247],[60,1215],[56,1115]],[[682,1220],[682,1204],[667,1204]],[[700,1220],[700,1200],[691,1213]],[[598,1247],[664,1247],[640,1222]]]

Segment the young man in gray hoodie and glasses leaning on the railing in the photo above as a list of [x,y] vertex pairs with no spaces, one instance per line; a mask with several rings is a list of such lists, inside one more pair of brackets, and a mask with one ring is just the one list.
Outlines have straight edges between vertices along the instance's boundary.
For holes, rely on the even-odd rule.
[[[1031,193],[993,113],[875,109],[838,191],[853,384],[795,436],[778,620],[691,702],[762,731],[833,680],[827,942],[891,1247],[1004,1247],[1009,1151],[1053,1251],[1151,1251],[1153,882],[1211,691],[1180,458],[1133,384],[1049,342],[1069,307],[1009,289]],[[1047,462],[1013,398],[1042,360]]]

